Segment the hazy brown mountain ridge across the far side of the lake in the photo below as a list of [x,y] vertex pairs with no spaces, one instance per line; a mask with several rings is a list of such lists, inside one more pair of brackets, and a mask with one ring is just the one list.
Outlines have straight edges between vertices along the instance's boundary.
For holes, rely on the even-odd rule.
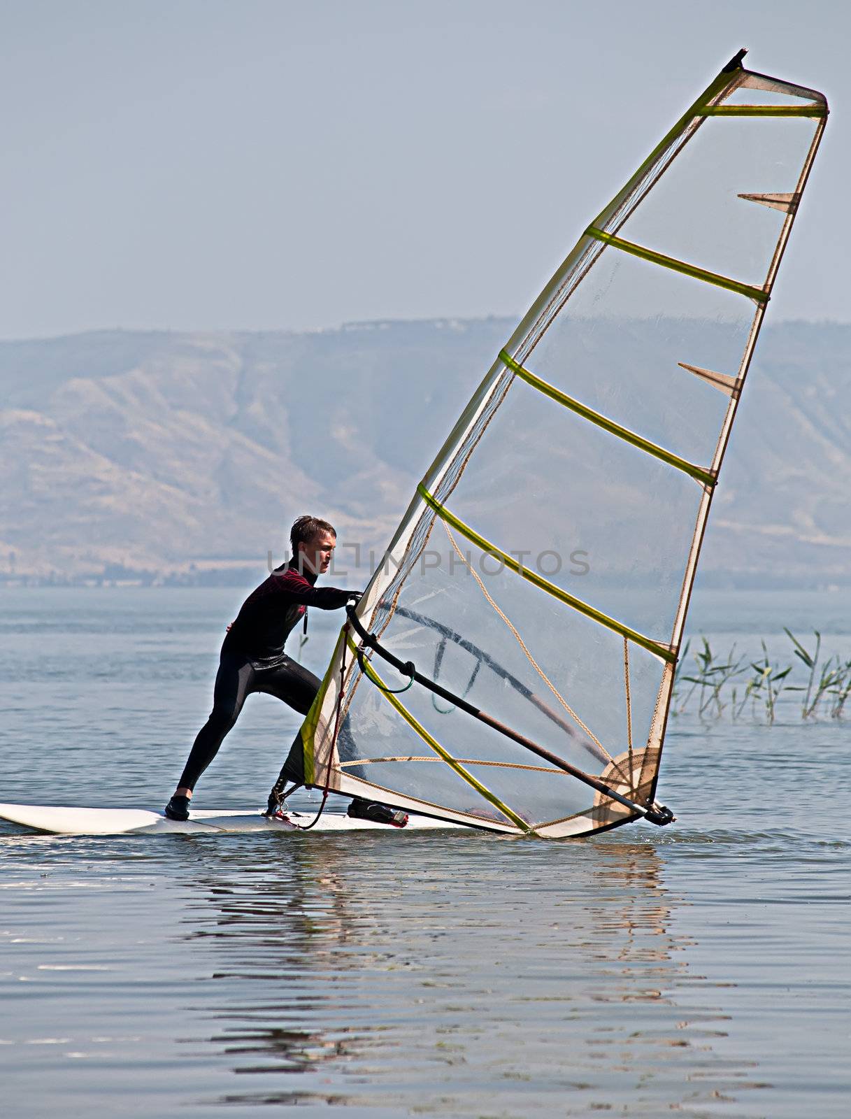
[[[512,328],[493,318],[0,342],[0,576],[195,564],[242,580],[268,552],[283,558],[304,511],[380,553]],[[765,329],[701,577],[851,581],[850,391],[851,326]]]

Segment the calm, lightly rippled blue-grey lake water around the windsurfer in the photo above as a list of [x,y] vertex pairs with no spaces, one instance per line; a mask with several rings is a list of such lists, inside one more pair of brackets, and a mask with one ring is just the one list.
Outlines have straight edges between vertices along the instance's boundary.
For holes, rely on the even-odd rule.
[[[160,805],[238,601],[3,591],[0,800]],[[692,617],[719,648],[819,626],[851,656],[848,594]],[[252,697],[199,803],[258,803],[296,725]],[[561,844],[0,825],[8,1113],[844,1116],[848,741],[678,720],[678,822]]]

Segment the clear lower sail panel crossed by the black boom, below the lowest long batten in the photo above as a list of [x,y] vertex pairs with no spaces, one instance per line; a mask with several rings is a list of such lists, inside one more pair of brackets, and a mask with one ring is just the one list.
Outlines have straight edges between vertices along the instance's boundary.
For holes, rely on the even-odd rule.
[[[514,572],[499,571],[493,557],[462,538],[456,543],[461,560],[443,526],[435,526],[389,624],[388,609],[376,611],[372,629],[381,633],[382,645],[586,772],[601,772],[626,749],[631,733],[643,745],[662,676],[659,658],[630,648],[627,720],[621,634]],[[391,668],[378,661],[376,668],[388,686],[403,686]],[[537,764],[522,746],[426,689],[410,688],[398,698],[450,750]]]

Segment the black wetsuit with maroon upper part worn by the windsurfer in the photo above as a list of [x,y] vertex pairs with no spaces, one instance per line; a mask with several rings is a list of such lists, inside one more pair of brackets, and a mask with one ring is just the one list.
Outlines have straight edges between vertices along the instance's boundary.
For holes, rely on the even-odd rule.
[[308,606],[339,610],[357,593],[316,587],[315,581],[312,572],[300,573],[291,560],[243,603],[221,646],[210,717],[198,732],[179,787],[195,789],[252,692],[265,692],[306,715],[321,681],[286,656],[284,641]]

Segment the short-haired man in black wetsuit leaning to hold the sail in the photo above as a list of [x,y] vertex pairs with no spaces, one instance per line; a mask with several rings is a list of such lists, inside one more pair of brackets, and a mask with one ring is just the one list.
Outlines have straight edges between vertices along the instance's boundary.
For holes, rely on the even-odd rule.
[[[299,517],[290,533],[290,542],[292,560],[277,567],[248,595],[236,621],[228,626],[210,717],[198,732],[178,788],[166,806],[166,816],[171,820],[189,819],[189,801],[198,778],[218,753],[252,692],[283,699],[301,715],[308,714],[319,692],[321,681],[286,656],[284,642],[304,618],[308,606],[339,610],[360,592],[315,586],[319,575],[328,571],[337,544],[337,533],[327,520]],[[270,809],[274,810],[272,800],[270,798]],[[404,812],[358,798],[350,807],[350,815],[396,827],[407,822]]]

